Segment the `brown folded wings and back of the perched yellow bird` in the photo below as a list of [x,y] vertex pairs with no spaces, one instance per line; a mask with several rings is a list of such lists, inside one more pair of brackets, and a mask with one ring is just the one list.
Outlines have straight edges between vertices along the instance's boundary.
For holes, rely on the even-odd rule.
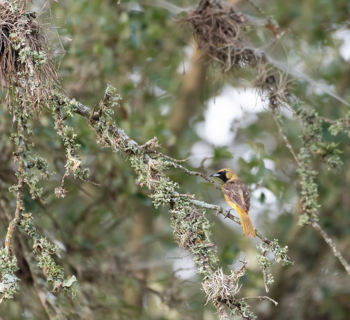
[[240,180],[226,182],[223,187],[224,195],[244,211],[250,208],[250,194],[247,186]]

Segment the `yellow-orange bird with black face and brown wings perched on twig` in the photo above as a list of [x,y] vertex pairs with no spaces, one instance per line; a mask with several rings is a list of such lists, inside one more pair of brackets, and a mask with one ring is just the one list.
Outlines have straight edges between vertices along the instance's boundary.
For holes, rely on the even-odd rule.
[[[221,169],[217,173],[214,173],[210,176],[218,177],[224,181],[222,190],[226,202],[239,214],[242,220],[244,235],[247,238],[255,238],[255,230],[252,224],[252,220],[249,217],[250,194],[246,184],[239,179],[235,171],[229,168]],[[226,216],[230,210],[228,210]]]

